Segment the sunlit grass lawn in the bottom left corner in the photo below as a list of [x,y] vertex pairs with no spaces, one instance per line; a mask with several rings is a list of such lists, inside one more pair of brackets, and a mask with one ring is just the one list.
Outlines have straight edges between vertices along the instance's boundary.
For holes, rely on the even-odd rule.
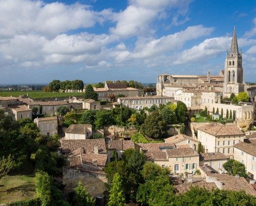
[[0,179],[0,204],[33,199],[36,195],[34,167],[28,164]]

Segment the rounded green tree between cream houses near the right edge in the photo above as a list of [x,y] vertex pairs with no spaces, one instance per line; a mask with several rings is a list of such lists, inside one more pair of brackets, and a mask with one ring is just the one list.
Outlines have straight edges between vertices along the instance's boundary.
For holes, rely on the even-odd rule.
[[230,175],[239,175],[240,177],[247,177],[245,165],[239,161],[229,159],[223,164],[225,170],[228,171]]

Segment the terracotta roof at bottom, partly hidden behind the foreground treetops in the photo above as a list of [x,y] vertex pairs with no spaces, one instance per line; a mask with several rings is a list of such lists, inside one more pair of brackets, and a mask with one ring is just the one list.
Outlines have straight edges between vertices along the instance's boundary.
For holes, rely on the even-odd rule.
[[193,183],[187,183],[185,181],[183,184],[173,185],[176,193],[185,193],[190,190],[191,186],[199,186],[205,188],[205,190],[212,191],[217,189],[217,186],[213,182],[199,181]]

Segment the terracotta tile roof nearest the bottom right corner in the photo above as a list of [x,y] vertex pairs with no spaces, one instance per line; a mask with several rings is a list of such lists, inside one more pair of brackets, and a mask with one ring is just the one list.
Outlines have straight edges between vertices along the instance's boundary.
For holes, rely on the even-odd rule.
[[247,194],[256,196],[254,188],[246,181],[244,177],[235,177],[229,175],[209,175],[218,181],[222,182],[222,190],[241,191],[244,190]]

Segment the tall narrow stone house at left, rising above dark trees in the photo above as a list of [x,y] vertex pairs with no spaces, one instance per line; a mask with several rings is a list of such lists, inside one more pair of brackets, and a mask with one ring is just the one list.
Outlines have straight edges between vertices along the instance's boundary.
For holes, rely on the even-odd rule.
[[58,133],[58,119],[56,116],[35,118],[34,123],[40,129],[40,133],[50,136]]

